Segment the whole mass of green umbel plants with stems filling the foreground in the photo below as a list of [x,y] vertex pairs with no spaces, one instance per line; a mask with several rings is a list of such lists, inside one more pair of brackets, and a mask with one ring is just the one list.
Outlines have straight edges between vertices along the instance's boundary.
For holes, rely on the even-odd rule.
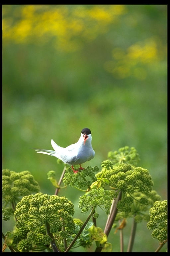
[[[123,149],[127,150],[128,147]],[[134,148],[132,151],[136,152]],[[135,156],[133,160],[137,161],[139,156],[137,153]],[[18,200],[19,196],[22,198],[16,207],[13,205],[16,224],[13,231],[8,231],[3,236],[5,240],[3,251],[8,246],[11,252],[74,252],[77,247],[87,249],[95,243],[95,252],[111,252],[112,244],[108,242],[109,233],[112,227],[116,227],[115,233],[118,230],[123,232],[128,218],[133,218],[134,222],[128,252],[132,251],[135,227],[142,221],[148,222],[148,229],[153,230],[152,237],[165,244],[167,200],[160,201],[160,196],[152,190],[153,181],[149,171],[131,165],[131,159],[126,157],[126,163],[121,164],[118,162],[114,164],[115,160],[113,162],[105,160],[101,164],[101,171],[97,166],[94,168],[89,166],[76,174],[71,167],[66,169],[64,167],[65,176],[63,177],[63,172],[62,179],[65,185],[75,187],[77,184],[75,188],[79,190],[85,187],[85,190],[81,190],[84,194],[80,196],[78,206],[82,213],[91,211],[84,222],[79,218],[73,219],[74,205],[65,196],[40,192],[33,194],[35,188],[39,186],[28,171],[15,173],[8,169],[3,170],[5,198],[7,198],[7,192],[11,194],[10,188],[14,185],[17,187],[20,184],[23,191],[27,188],[27,193],[30,188],[29,195],[24,195],[22,191],[17,194]],[[56,188],[60,188],[54,171],[49,171],[47,176],[54,186],[57,184]],[[8,184],[11,186],[7,189]],[[100,220],[99,208],[108,215],[104,231],[97,225],[98,218]],[[2,208],[2,213],[3,220],[10,220],[8,204],[6,208],[5,206]],[[93,222],[90,221],[91,217]],[[157,249],[159,250],[160,248]]]

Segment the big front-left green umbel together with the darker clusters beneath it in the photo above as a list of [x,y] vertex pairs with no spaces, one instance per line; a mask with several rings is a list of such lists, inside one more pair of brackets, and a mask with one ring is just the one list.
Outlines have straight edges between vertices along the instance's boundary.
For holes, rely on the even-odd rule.
[[[17,204],[17,219],[12,246],[21,252],[49,250],[50,234],[55,234],[60,249],[61,239],[67,239],[75,229],[73,204],[66,197],[37,193],[24,196]],[[48,229],[49,224],[49,229]],[[62,231],[62,228],[66,229]],[[46,228],[48,234],[46,234]]]

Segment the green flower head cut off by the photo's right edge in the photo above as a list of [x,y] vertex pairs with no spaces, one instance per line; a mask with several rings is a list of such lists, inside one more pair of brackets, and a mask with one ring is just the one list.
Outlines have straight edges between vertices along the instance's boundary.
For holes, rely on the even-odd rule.
[[168,234],[168,202],[156,201],[150,209],[150,220],[147,223],[147,228],[152,229],[152,237],[160,243],[167,240]]

